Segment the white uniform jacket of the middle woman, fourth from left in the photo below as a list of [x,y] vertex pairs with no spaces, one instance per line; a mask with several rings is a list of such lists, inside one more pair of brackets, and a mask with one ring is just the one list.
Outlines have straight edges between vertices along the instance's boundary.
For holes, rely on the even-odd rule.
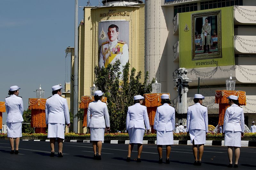
[[126,116],[126,130],[130,128],[142,128],[147,130],[150,129],[147,107],[140,105],[140,103],[135,103],[132,106],[128,107],[127,116]]

